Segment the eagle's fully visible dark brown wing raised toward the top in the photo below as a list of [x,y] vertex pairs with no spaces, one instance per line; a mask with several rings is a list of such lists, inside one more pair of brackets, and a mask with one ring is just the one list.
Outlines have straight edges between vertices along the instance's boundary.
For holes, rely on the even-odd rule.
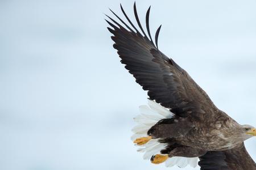
[[134,14],[142,33],[130,21],[122,6],[121,10],[130,26],[112,10],[110,11],[124,26],[107,15],[110,21],[106,20],[106,22],[112,27],[108,29],[114,35],[112,36],[112,40],[115,42],[113,46],[118,50],[117,53],[121,62],[126,65],[125,68],[133,74],[136,82],[143,87],[143,90],[148,91],[150,99],[171,109],[172,113],[181,117],[188,115],[197,117],[196,115],[199,116],[199,113],[205,112],[217,113],[218,109],[209,99],[209,96],[187,72],[158,49],[158,35],[161,26],[156,31],[156,45],[154,44],[149,28],[150,8],[146,14],[148,36],[139,22],[135,3]]

